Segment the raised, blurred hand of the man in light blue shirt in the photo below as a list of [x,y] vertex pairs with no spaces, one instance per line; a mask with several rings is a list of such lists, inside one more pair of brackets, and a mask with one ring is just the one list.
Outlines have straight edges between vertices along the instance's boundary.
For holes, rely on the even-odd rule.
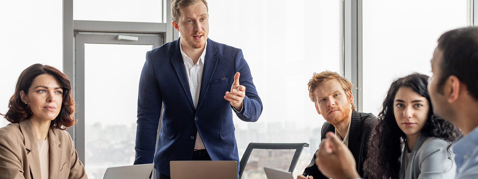
[[355,158],[333,132],[328,132],[315,153],[315,165],[320,172],[332,179],[357,179]]

